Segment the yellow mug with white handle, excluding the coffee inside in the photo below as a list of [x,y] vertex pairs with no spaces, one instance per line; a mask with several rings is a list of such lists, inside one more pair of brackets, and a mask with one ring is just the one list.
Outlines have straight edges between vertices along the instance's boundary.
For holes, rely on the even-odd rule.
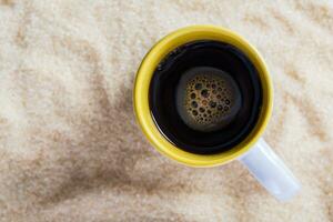
[[[149,104],[150,83],[159,63],[178,47],[200,40],[220,41],[241,50],[256,68],[262,84],[262,108],[254,129],[242,142],[218,154],[195,154],[176,148],[155,125]],[[282,201],[300,190],[299,181],[261,139],[272,113],[272,81],[260,53],[239,34],[215,26],[192,26],[168,34],[144,57],[135,78],[133,102],[139,125],[160,153],[189,167],[215,167],[240,160],[264,188]]]

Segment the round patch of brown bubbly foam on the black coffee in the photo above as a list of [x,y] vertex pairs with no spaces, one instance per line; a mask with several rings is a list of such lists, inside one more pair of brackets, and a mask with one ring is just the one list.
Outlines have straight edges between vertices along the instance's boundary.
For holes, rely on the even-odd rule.
[[193,130],[210,132],[229,124],[241,108],[241,92],[229,73],[210,67],[185,71],[176,89],[176,109]]

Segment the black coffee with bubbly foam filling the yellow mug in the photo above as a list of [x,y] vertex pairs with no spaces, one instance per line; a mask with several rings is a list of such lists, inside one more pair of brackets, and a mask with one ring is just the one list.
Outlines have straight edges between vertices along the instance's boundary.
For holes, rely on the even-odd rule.
[[150,84],[150,109],[161,133],[185,151],[212,154],[240,143],[262,103],[259,74],[244,53],[218,41],[195,41],[169,53]]

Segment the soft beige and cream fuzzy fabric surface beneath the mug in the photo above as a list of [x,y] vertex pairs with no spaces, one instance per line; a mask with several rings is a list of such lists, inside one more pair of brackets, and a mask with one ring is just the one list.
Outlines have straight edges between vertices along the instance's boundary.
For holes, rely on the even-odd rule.
[[[289,203],[238,162],[159,155],[132,114],[141,59],[168,32],[213,23],[265,58],[264,135],[301,180]],[[332,221],[332,1],[0,0],[0,221]]]

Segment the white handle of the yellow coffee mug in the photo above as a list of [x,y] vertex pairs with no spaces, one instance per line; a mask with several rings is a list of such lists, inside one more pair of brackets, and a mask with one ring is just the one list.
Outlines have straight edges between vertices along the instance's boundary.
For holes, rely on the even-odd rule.
[[239,161],[280,201],[287,201],[301,189],[297,179],[263,139],[240,157]]

